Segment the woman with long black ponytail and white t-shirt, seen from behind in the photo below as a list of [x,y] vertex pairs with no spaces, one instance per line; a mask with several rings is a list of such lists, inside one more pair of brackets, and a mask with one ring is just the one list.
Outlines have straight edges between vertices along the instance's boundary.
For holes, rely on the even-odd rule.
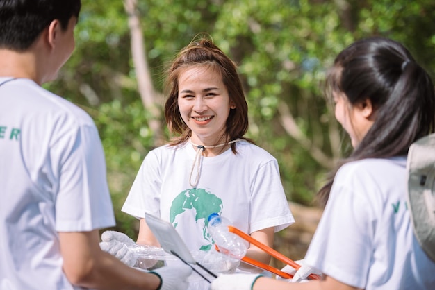
[[320,189],[325,211],[299,270],[313,267],[322,280],[221,275],[213,290],[435,289],[435,262],[413,233],[406,169],[409,146],[434,133],[432,80],[402,44],[371,37],[337,56],[327,87],[354,151]]

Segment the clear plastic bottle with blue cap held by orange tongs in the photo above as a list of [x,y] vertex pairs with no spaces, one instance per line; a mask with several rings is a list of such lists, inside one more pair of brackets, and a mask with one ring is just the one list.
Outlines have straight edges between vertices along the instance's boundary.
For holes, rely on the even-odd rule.
[[246,255],[246,245],[237,234],[230,232],[231,222],[219,214],[208,216],[208,233],[219,248],[220,253],[234,259],[242,259]]

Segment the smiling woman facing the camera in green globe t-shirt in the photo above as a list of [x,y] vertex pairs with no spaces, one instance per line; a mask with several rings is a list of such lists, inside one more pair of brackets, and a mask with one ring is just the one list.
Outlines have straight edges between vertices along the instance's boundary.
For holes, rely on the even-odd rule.
[[[191,251],[206,253],[214,247],[208,216],[218,213],[272,247],[274,232],[294,219],[277,160],[244,137],[248,108],[236,65],[207,37],[194,40],[172,61],[167,89],[165,119],[176,136],[147,154],[122,207],[140,219],[137,244],[159,246],[147,212],[172,223]],[[247,246],[247,257],[269,264],[270,255]]]

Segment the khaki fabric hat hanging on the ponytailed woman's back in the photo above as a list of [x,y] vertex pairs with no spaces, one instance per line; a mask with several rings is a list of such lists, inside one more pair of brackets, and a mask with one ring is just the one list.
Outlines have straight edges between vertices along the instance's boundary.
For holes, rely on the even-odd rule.
[[407,157],[411,223],[418,243],[435,262],[435,134],[411,144]]

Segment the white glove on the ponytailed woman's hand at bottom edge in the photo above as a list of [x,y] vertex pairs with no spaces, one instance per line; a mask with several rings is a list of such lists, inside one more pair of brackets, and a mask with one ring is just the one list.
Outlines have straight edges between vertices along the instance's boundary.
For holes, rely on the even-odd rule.
[[211,290],[252,290],[258,274],[221,274],[211,282]]

